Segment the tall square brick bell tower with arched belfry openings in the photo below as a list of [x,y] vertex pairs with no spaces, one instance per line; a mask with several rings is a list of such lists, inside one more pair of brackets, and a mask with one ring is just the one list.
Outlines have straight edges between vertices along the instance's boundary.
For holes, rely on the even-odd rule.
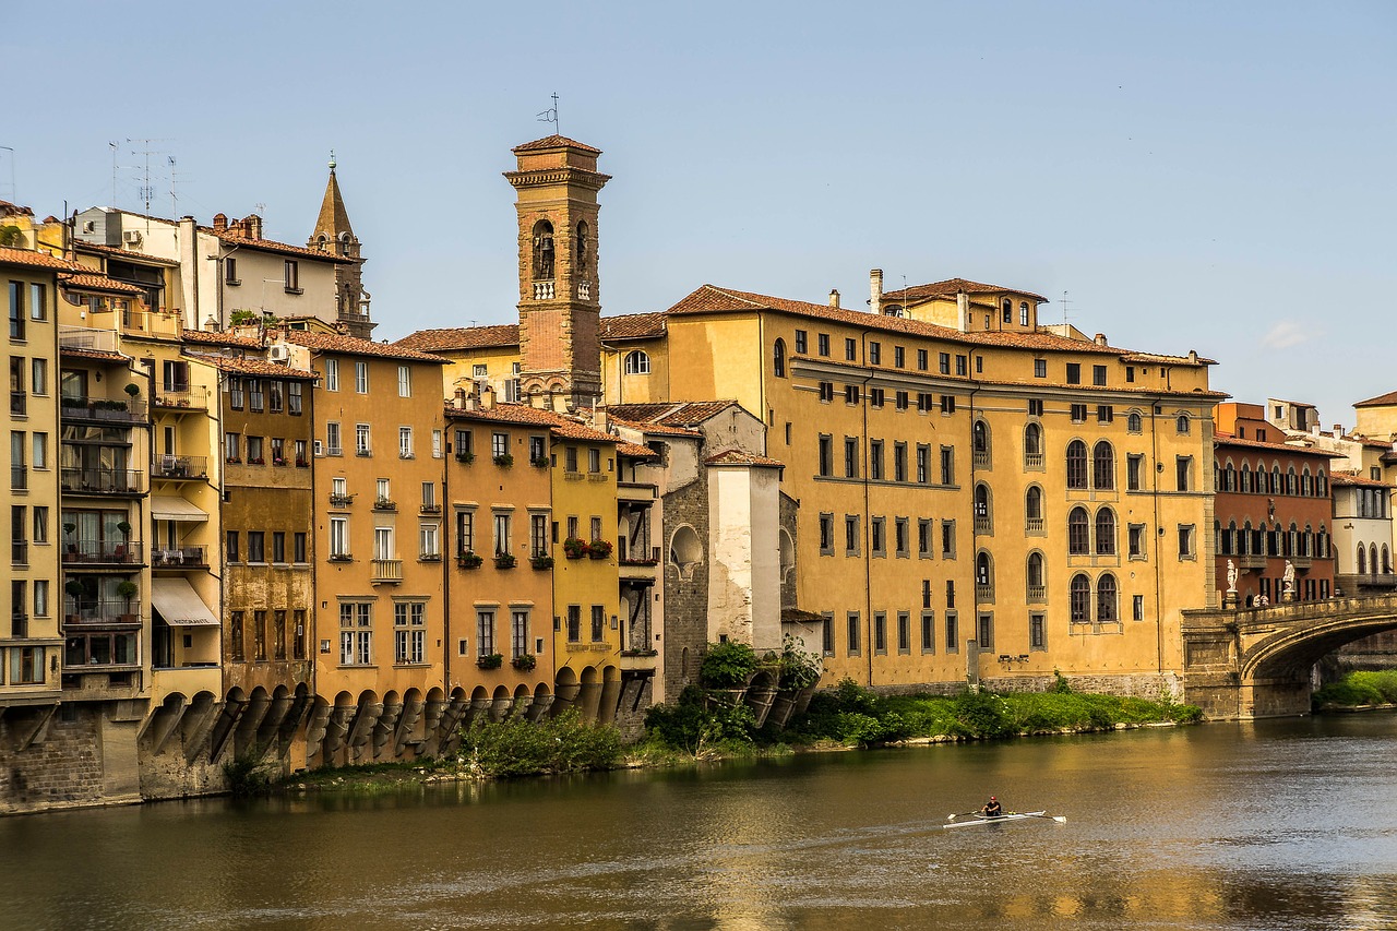
[[520,389],[528,403],[590,408],[602,393],[597,275],[601,150],[548,136],[515,147],[504,172],[520,221]]

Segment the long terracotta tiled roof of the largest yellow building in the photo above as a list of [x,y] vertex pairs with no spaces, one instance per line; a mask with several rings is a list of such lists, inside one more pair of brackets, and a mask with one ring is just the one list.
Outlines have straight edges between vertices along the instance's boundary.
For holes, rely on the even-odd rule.
[[[1060,351],[1060,352],[1092,352],[1099,355],[1134,355],[1130,349],[1119,347],[1098,345],[1088,340],[1069,340],[1053,333],[1014,333],[1009,330],[983,330],[977,333],[963,333],[950,327],[912,320],[908,317],[890,317],[886,315],[868,313],[865,310],[848,310],[845,308],[831,308],[824,303],[810,303],[807,301],[791,301],[787,298],[773,298],[770,295],[752,294],[747,291],[732,291],[715,285],[703,285],[693,294],[685,296],[679,303],[669,308],[671,316],[692,313],[724,313],[724,312],[752,312],[752,310],[780,310],[802,317],[819,320],[833,320],[847,323],[865,330],[883,330],[886,333],[905,333],[946,342],[961,342],[967,345],[1007,345],[1024,349]],[[1200,363],[1203,359],[1200,359]]]

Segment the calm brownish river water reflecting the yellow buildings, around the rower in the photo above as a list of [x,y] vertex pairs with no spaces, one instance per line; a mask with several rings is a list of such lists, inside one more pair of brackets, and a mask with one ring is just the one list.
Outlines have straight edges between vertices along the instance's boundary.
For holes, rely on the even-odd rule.
[[[3,928],[1397,928],[1397,716],[0,821]],[[990,793],[1067,823],[943,830]]]

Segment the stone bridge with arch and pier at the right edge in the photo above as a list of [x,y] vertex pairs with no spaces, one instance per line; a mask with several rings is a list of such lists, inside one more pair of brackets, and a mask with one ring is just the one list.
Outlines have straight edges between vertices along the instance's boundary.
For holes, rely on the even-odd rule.
[[1315,664],[1384,630],[1397,630],[1397,596],[1185,611],[1185,700],[1214,720],[1306,714]]

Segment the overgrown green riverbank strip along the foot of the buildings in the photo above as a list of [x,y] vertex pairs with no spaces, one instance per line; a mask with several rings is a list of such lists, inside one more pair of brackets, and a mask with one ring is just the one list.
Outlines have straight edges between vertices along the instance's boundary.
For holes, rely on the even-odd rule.
[[1055,692],[965,692],[958,696],[880,696],[845,681],[819,692],[787,728],[757,727],[745,705],[694,689],[673,706],[655,706],[647,735],[622,746],[615,728],[576,714],[550,721],[483,721],[467,731],[450,759],[317,769],[281,780],[233,780],[235,794],[377,794],[407,786],[486,781],[570,772],[683,767],[731,759],[848,752],[1014,737],[1173,727],[1201,720],[1199,709],[1171,700]]

